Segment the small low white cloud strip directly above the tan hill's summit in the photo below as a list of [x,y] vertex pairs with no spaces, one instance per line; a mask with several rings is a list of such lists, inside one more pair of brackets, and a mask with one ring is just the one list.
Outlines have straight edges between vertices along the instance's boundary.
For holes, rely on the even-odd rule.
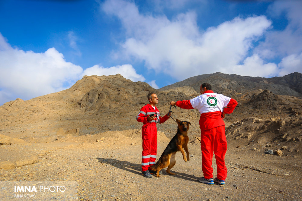
[[115,75],[121,74],[124,78],[129,79],[133,82],[145,81],[145,78],[142,75],[136,73],[135,69],[131,64],[124,64],[121,66],[113,66],[110,68],[105,68],[103,66],[94,65],[90,68],[86,68],[83,72],[84,75]]

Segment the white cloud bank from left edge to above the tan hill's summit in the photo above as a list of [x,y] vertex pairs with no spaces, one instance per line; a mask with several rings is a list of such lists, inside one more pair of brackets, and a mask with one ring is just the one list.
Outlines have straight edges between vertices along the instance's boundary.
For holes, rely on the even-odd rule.
[[[144,81],[130,64],[104,68],[82,67],[67,62],[62,53],[50,48],[43,53],[12,48],[0,33],[0,105],[21,98],[24,100],[69,88],[83,73],[86,75],[121,74],[132,81]],[[90,73],[90,74],[89,74]]]

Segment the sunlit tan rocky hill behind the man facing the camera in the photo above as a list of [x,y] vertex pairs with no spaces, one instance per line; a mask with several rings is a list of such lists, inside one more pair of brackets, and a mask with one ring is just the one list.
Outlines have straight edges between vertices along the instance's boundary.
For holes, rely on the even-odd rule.
[[[198,95],[191,87],[175,92],[157,91],[147,83],[132,82],[120,74],[84,76],[70,89],[28,101],[16,99],[0,106],[0,133],[22,138],[48,138],[59,130],[85,135],[107,130],[139,129],[142,125],[136,121],[136,116],[148,103],[146,97],[152,91],[159,97],[157,106],[162,115],[169,111],[170,100],[190,99]],[[188,114],[197,118],[196,111]],[[176,118],[185,116],[175,115]],[[168,132],[173,128],[174,132],[174,124],[172,119],[169,120],[163,130]]]

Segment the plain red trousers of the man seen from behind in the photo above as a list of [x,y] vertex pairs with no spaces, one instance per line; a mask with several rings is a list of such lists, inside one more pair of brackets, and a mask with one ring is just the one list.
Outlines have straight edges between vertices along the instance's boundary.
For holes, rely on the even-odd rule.
[[226,179],[226,165],[224,155],[226,154],[226,134],[225,126],[215,127],[201,131],[201,154],[202,172],[205,179],[213,178],[212,159],[213,152],[216,158],[217,178]]

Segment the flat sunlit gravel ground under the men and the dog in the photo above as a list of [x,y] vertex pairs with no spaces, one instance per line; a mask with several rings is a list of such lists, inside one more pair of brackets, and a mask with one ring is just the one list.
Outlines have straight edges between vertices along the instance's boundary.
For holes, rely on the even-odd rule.
[[[158,143],[158,155],[166,144],[167,140]],[[198,182],[202,176],[198,143],[189,144],[189,162],[176,154],[172,169],[176,175],[164,170],[160,178],[151,179],[141,175],[139,138],[12,144],[0,146],[0,162],[33,156],[38,162],[1,169],[0,181],[75,181],[78,200],[302,200],[300,159],[250,149],[229,147],[228,176],[226,184],[220,186]],[[215,177],[215,165],[213,168]]]

